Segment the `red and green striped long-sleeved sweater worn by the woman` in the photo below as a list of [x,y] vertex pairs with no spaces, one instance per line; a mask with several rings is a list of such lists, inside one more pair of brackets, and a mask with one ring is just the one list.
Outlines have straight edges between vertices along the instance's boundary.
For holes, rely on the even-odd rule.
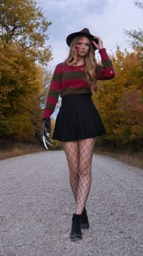
[[[105,48],[99,50],[102,65],[97,65],[97,80],[108,80],[115,77],[115,71]],[[65,62],[59,63],[54,71],[52,82],[48,91],[42,119],[50,117],[55,110],[59,94],[62,97],[69,94],[91,94],[91,90],[85,80],[84,65],[68,66]]]

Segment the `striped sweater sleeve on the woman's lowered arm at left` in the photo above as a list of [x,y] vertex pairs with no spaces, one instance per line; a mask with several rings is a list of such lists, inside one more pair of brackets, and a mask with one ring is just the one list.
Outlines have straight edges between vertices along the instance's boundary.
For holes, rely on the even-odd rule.
[[58,64],[53,73],[42,119],[50,118],[55,110],[56,103],[58,102],[59,98],[59,93],[61,92],[61,74],[61,65]]

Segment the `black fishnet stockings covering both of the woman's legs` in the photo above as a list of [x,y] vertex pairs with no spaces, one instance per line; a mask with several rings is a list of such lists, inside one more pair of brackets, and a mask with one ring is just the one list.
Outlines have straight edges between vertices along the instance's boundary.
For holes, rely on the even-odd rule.
[[76,201],[76,214],[82,214],[91,186],[91,161],[95,138],[64,142],[70,171],[70,186]]

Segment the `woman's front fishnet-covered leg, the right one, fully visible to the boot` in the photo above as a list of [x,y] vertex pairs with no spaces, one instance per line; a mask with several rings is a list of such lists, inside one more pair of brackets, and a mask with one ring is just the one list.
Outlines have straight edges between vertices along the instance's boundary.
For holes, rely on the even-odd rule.
[[91,161],[95,138],[79,140],[79,185],[76,199],[76,214],[81,215],[91,186]]

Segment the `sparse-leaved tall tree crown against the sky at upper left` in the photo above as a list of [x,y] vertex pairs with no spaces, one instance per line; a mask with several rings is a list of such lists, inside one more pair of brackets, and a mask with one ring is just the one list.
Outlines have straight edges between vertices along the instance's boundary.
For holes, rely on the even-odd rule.
[[0,16],[0,40],[6,44],[18,42],[27,56],[47,65],[52,57],[47,46],[51,23],[44,18],[36,1],[0,0]]

